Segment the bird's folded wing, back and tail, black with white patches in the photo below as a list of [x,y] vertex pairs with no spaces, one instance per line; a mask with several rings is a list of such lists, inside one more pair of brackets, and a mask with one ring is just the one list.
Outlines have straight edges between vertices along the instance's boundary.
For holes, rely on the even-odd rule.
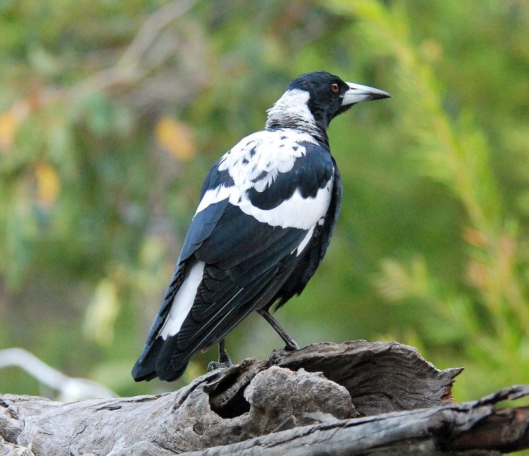
[[[295,150],[281,163],[264,163],[262,157],[252,163],[261,143],[249,141],[238,158],[226,154],[210,170],[174,276],[134,366],[136,380],[156,375],[173,380],[193,353],[269,304],[326,214],[334,174],[329,150],[287,140],[284,147],[303,153]],[[227,167],[227,160],[234,163]]]

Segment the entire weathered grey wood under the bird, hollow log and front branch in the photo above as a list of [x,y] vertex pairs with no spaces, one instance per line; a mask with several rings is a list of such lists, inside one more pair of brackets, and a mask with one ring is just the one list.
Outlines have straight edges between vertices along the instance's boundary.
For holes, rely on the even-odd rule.
[[314,344],[274,358],[163,395],[68,404],[0,395],[0,453],[494,454],[529,446],[529,408],[493,407],[529,386],[455,404],[462,369],[439,371],[395,342]]

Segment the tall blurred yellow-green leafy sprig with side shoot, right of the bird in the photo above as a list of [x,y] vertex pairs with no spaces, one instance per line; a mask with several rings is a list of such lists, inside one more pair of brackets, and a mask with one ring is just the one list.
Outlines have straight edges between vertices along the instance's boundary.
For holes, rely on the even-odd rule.
[[[519,230],[513,229],[518,225],[513,222],[516,216],[506,214],[501,207],[486,134],[468,109],[446,109],[448,90],[428,62],[436,59],[425,59],[424,47],[415,47],[402,3],[395,2],[388,8],[370,0],[335,1],[333,5],[361,21],[362,32],[374,50],[393,57],[394,73],[402,83],[400,90],[406,103],[400,121],[415,141],[411,153],[417,169],[450,189],[464,209],[468,224],[461,236],[469,244],[467,280],[473,294],[449,284],[439,288],[426,272],[424,261],[412,262],[406,269],[394,260],[382,263],[382,293],[393,300],[419,301],[438,314],[438,322],[451,324],[458,328],[460,337],[466,336],[461,344],[469,357],[476,355],[470,344],[477,343],[486,347],[479,352],[481,362],[499,363],[510,375],[523,377],[523,372],[529,371],[528,360],[515,353],[521,353],[528,343],[529,284],[519,268],[527,264],[529,257],[519,249]],[[432,41],[427,43],[428,48],[433,47]],[[437,46],[434,48],[439,54]],[[468,312],[471,299],[475,300],[475,311],[481,312],[478,320],[482,324],[475,324],[477,315]],[[426,324],[422,337],[428,338],[431,333],[433,327]],[[437,343],[449,341],[445,334]]]

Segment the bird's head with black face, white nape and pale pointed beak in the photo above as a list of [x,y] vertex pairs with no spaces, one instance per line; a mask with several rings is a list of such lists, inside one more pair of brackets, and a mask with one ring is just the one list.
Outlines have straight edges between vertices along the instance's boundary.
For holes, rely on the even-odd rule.
[[338,114],[360,101],[390,96],[384,90],[347,83],[327,72],[302,74],[268,110],[267,128],[295,127],[326,138],[326,129]]

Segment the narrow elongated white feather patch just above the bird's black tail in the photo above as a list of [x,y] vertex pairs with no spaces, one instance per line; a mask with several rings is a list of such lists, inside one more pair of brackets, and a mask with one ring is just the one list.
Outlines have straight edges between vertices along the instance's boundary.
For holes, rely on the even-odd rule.
[[180,289],[176,292],[173,303],[171,304],[171,309],[169,309],[169,313],[167,314],[165,322],[163,322],[163,327],[159,333],[164,340],[166,340],[169,335],[175,335],[180,331],[185,318],[189,314],[189,311],[191,311],[191,306],[195,300],[198,285],[204,274],[204,267],[205,262],[196,262],[191,267],[189,275],[185,278]]

